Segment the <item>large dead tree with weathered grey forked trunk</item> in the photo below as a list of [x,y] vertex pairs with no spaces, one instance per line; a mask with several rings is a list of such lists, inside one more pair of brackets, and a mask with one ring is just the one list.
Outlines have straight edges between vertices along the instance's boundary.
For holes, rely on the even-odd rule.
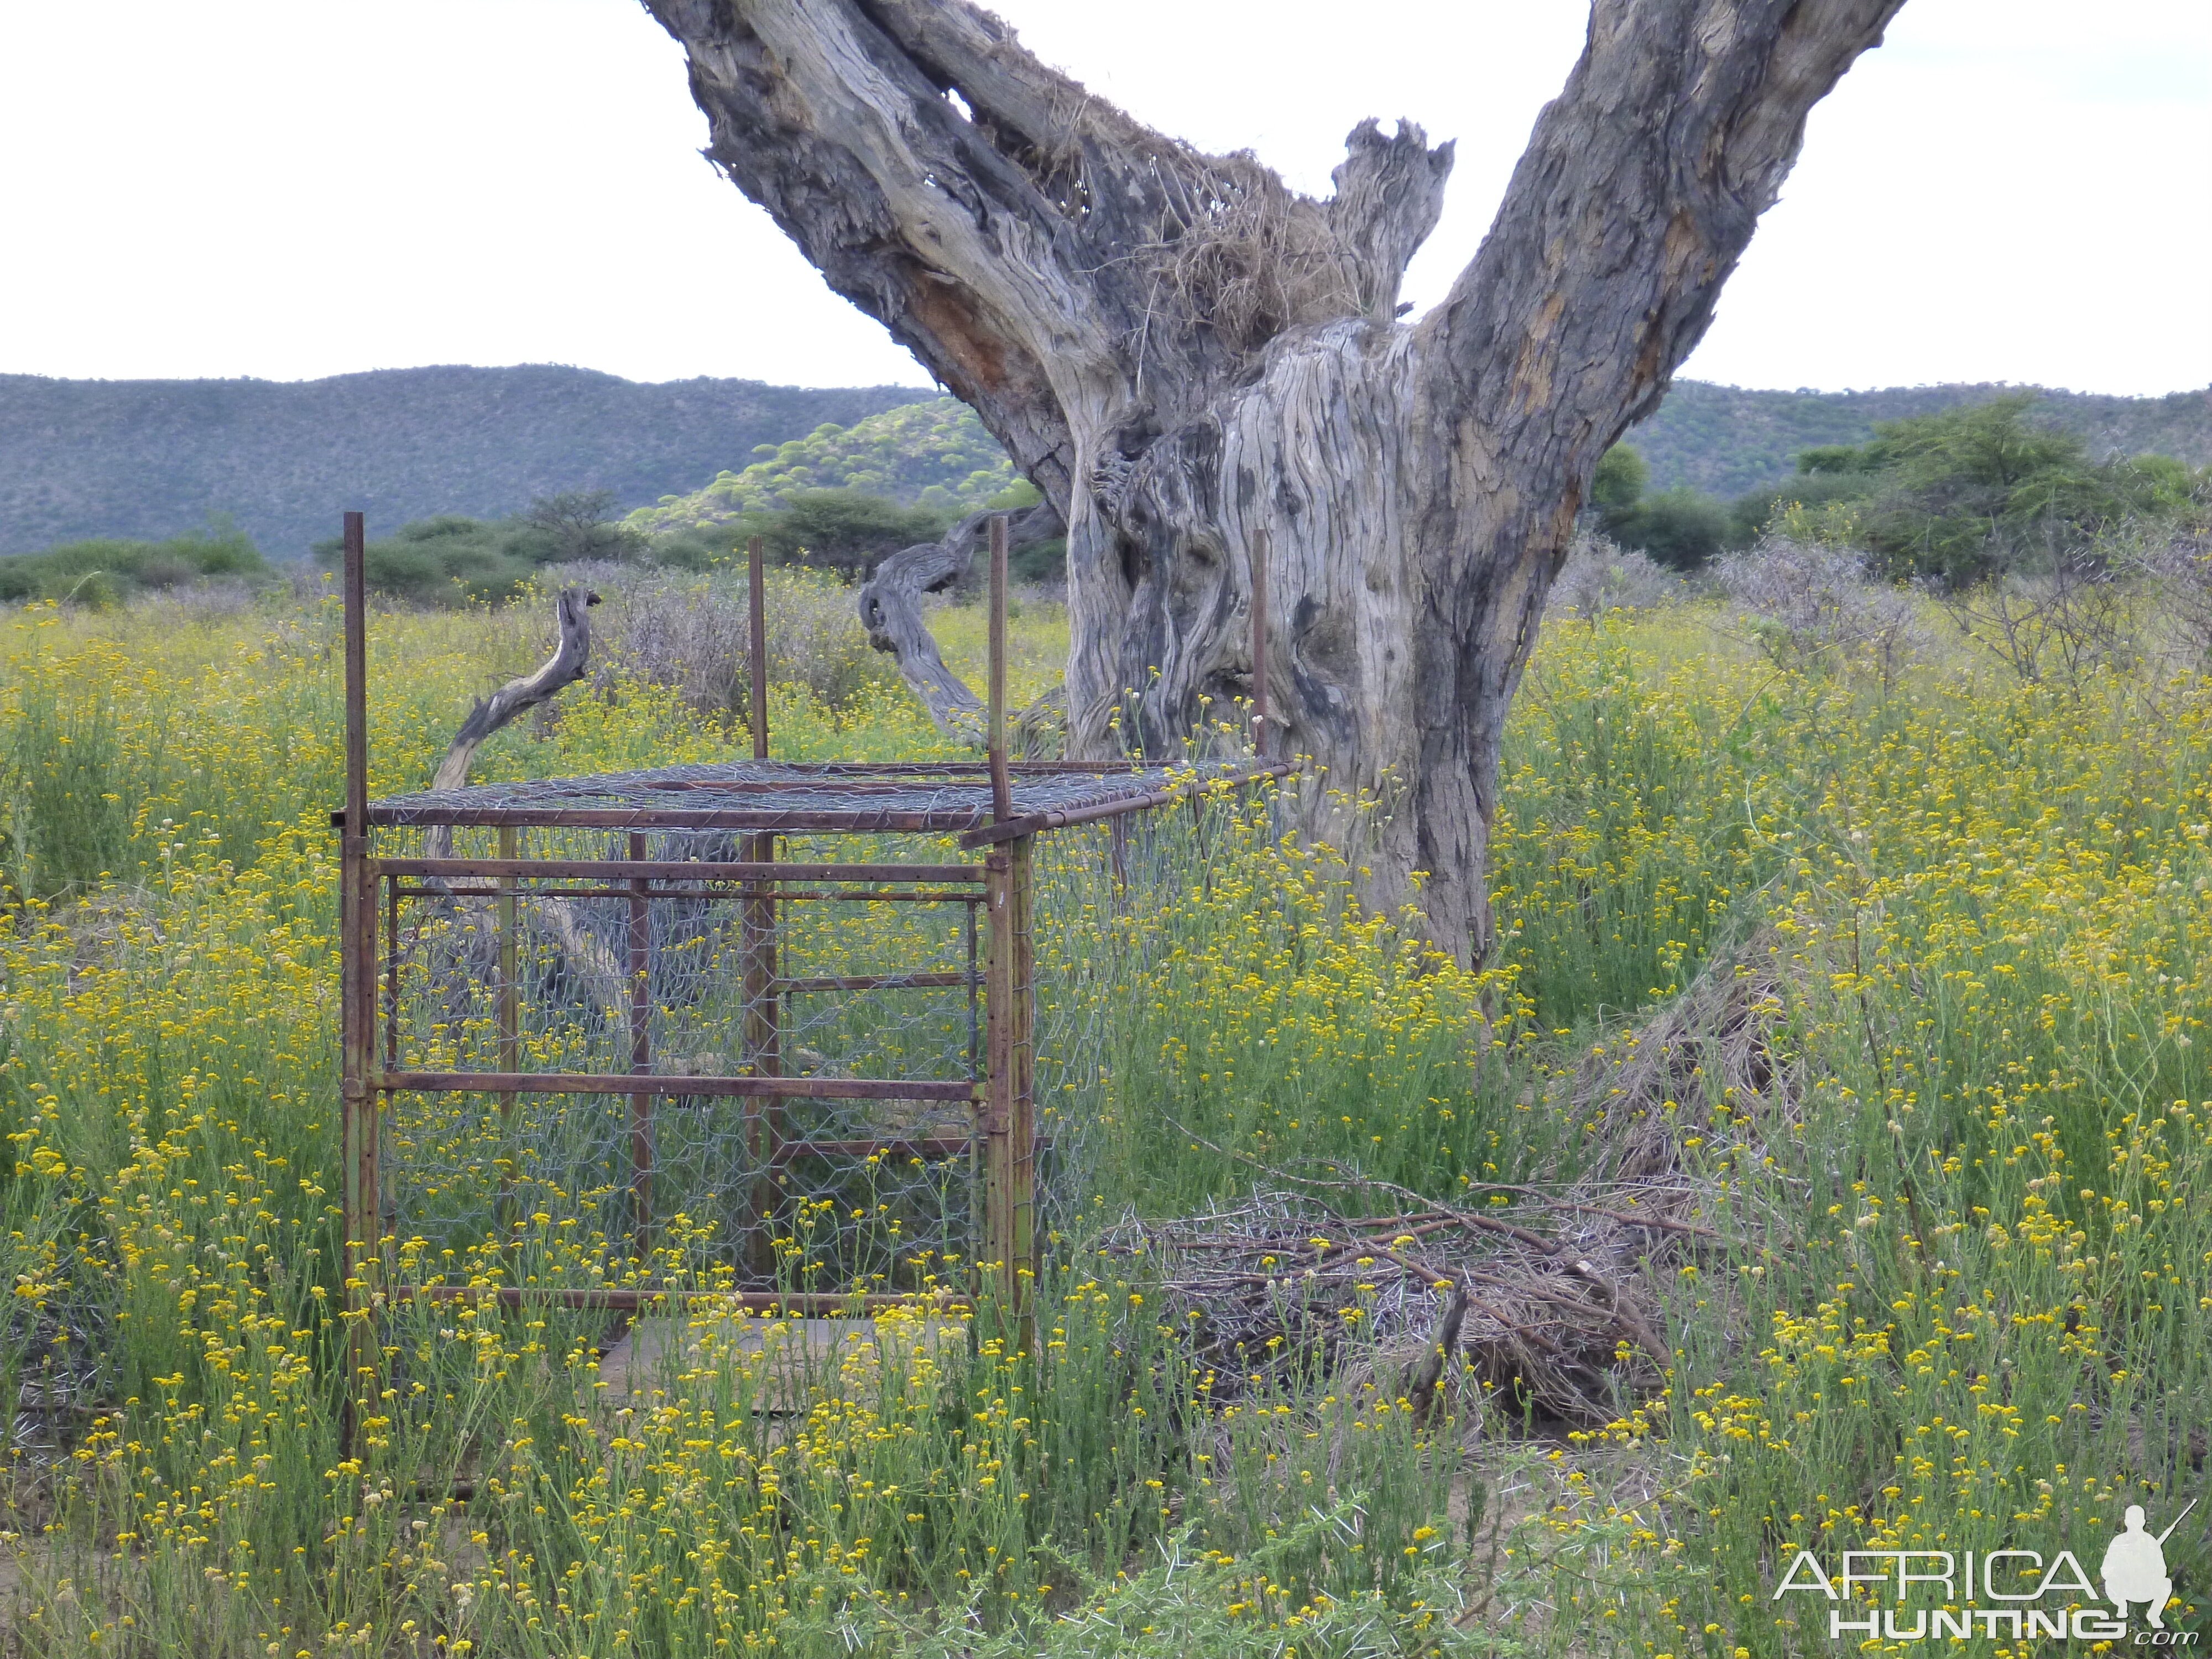
[[1478,958],[1500,732],[1590,469],[1902,0],[1595,0],[1418,323],[1398,283],[1451,168],[1418,126],[1363,122],[1316,201],[1146,128],[967,0],[644,2],[690,55],[706,155],[1066,522],[1068,752],[1181,752],[1245,692],[1265,531],[1272,741],[1329,785],[1307,823],[1387,796],[1369,896],[1429,872],[1433,936]]

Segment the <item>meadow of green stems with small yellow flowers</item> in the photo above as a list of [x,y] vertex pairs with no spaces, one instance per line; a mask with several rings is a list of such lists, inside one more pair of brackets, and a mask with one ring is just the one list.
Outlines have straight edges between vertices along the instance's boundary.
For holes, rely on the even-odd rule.
[[[975,617],[938,622],[975,677]],[[372,790],[418,787],[546,630],[542,599],[376,615]],[[1024,608],[1018,699],[1062,641]],[[0,1652],[1750,1659],[1847,1646],[1774,1599],[1803,1548],[2095,1568],[2126,1504],[2159,1528],[2205,1491],[2212,679],[2024,684],[1958,639],[1778,666],[1699,604],[1551,624],[1480,971],[1265,801],[1141,902],[1040,849],[1040,1029],[1084,1062],[1040,1066],[1079,1155],[1033,1327],[730,1316],[679,1217],[619,1265],[670,1292],[626,1371],[604,1314],[482,1296],[380,1310],[367,1385],[338,732],[327,597],[0,617]],[[478,776],[737,752],[615,650]],[[794,677],[774,752],[953,750],[896,679]],[[1728,1031],[1674,1018],[1714,984],[1754,987]],[[1728,1044],[1752,1071],[1699,1060]],[[1668,1363],[1624,1356],[1579,1420],[1471,1371],[1416,1405],[1420,1347],[1358,1298],[1327,1352],[1221,1376],[1102,1245],[1296,1170],[1522,1214],[1630,1121],[1699,1225],[1644,1267]],[[783,1225],[799,1272],[843,1217]],[[544,1217],[511,1250],[588,1245]],[[2166,1546],[2177,1630],[2203,1517]]]

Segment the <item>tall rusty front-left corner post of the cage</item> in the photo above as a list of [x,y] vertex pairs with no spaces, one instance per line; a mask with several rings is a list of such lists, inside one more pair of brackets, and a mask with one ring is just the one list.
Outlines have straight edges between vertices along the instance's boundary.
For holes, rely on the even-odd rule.
[[356,1398],[376,1363],[376,1334],[363,1314],[365,1263],[376,1250],[376,1115],[369,1106],[369,1066],[376,1035],[376,894],[369,887],[369,701],[367,701],[367,588],[361,513],[345,515],[345,832],[338,838],[338,1157],[345,1166],[345,1239],[341,1272],[347,1312],[347,1378],[341,1436],[345,1455],[356,1449]]

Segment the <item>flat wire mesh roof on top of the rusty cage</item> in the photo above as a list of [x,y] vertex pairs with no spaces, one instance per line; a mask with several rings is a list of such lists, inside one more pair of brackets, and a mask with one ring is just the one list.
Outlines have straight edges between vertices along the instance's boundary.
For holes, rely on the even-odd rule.
[[[1161,805],[1194,779],[1243,783],[1279,772],[1237,761],[1020,761],[1009,768],[1009,823],[1053,827]],[[1157,796],[1157,799],[1155,799]],[[810,763],[714,761],[584,779],[471,783],[369,803],[372,825],[613,825],[655,830],[964,832],[993,823],[982,761]]]

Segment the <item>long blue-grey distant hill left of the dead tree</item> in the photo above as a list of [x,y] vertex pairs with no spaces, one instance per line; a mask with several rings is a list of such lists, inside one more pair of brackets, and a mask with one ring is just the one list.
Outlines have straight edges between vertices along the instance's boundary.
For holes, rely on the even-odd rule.
[[330,380],[0,374],[0,553],[159,540],[230,513],[294,557],[358,507],[369,531],[495,518],[562,489],[624,507],[690,491],[754,445],[931,398],[918,387],[639,385],[593,369],[376,369]]

